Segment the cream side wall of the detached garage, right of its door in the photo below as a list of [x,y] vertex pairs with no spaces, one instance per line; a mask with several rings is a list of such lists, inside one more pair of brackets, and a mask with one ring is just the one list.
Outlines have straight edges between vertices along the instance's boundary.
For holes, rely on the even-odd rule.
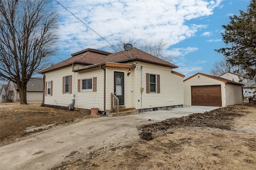
[[243,103],[243,94],[242,94],[241,86],[226,83],[225,93],[226,93],[225,106]]

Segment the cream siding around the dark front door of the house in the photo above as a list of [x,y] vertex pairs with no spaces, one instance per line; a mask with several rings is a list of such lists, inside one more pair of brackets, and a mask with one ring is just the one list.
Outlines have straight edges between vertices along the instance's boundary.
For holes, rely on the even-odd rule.
[[114,93],[114,71],[124,72],[124,105],[126,108],[135,107],[135,71],[131,69],[131,74],[127,76],[129,68],[106,68],[106,109],[111,109],[111,93]]

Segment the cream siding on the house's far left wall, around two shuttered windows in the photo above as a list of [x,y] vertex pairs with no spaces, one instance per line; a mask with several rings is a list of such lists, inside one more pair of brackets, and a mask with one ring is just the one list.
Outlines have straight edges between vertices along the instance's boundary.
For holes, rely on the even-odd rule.
[[[45,82],[52,81],[52,96],[44,96],[44,104],[56,105],[56,106],[68,106],[73,99],[73,95],[77,87],[74,86],[76,81],[76,73],[72,72],[72,66],[53,70],[45,73]],[[72,93],[62,94],[62,78],[63,76],[72,75]]]

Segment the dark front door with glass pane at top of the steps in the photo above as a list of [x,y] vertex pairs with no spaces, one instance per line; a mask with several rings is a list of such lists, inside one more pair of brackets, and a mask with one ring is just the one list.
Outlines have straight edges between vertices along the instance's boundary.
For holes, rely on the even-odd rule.
[[119,105],[124,105],[124,72],[114,72],[114,95],[119,99]]

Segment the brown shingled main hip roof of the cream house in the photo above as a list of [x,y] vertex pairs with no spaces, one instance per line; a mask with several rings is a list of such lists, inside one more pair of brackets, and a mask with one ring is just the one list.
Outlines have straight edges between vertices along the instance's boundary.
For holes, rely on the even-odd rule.
[[[132,56],[130,57],[128,53]],[[69,59],[66,59],[58,64],[50,66],[44,70],[41,70],[39,73],[48,72],[58,68],[63,68],[70,66],[74,63],[81,63],[86,65],[99,64],[99,63],[125,63],[128,61],[142,61],[145,63],[157,64],[161,66],[167,66],[171,68],[178,68],[178,66],[171,64],[167,61],[154,57],[144,51],[141,51],[137,48],[132,48],[128,51],[120,51],[118,53],[109,53],[106,51],[101,51],[97,49],[85,49],[77,53],[72,54]]]

